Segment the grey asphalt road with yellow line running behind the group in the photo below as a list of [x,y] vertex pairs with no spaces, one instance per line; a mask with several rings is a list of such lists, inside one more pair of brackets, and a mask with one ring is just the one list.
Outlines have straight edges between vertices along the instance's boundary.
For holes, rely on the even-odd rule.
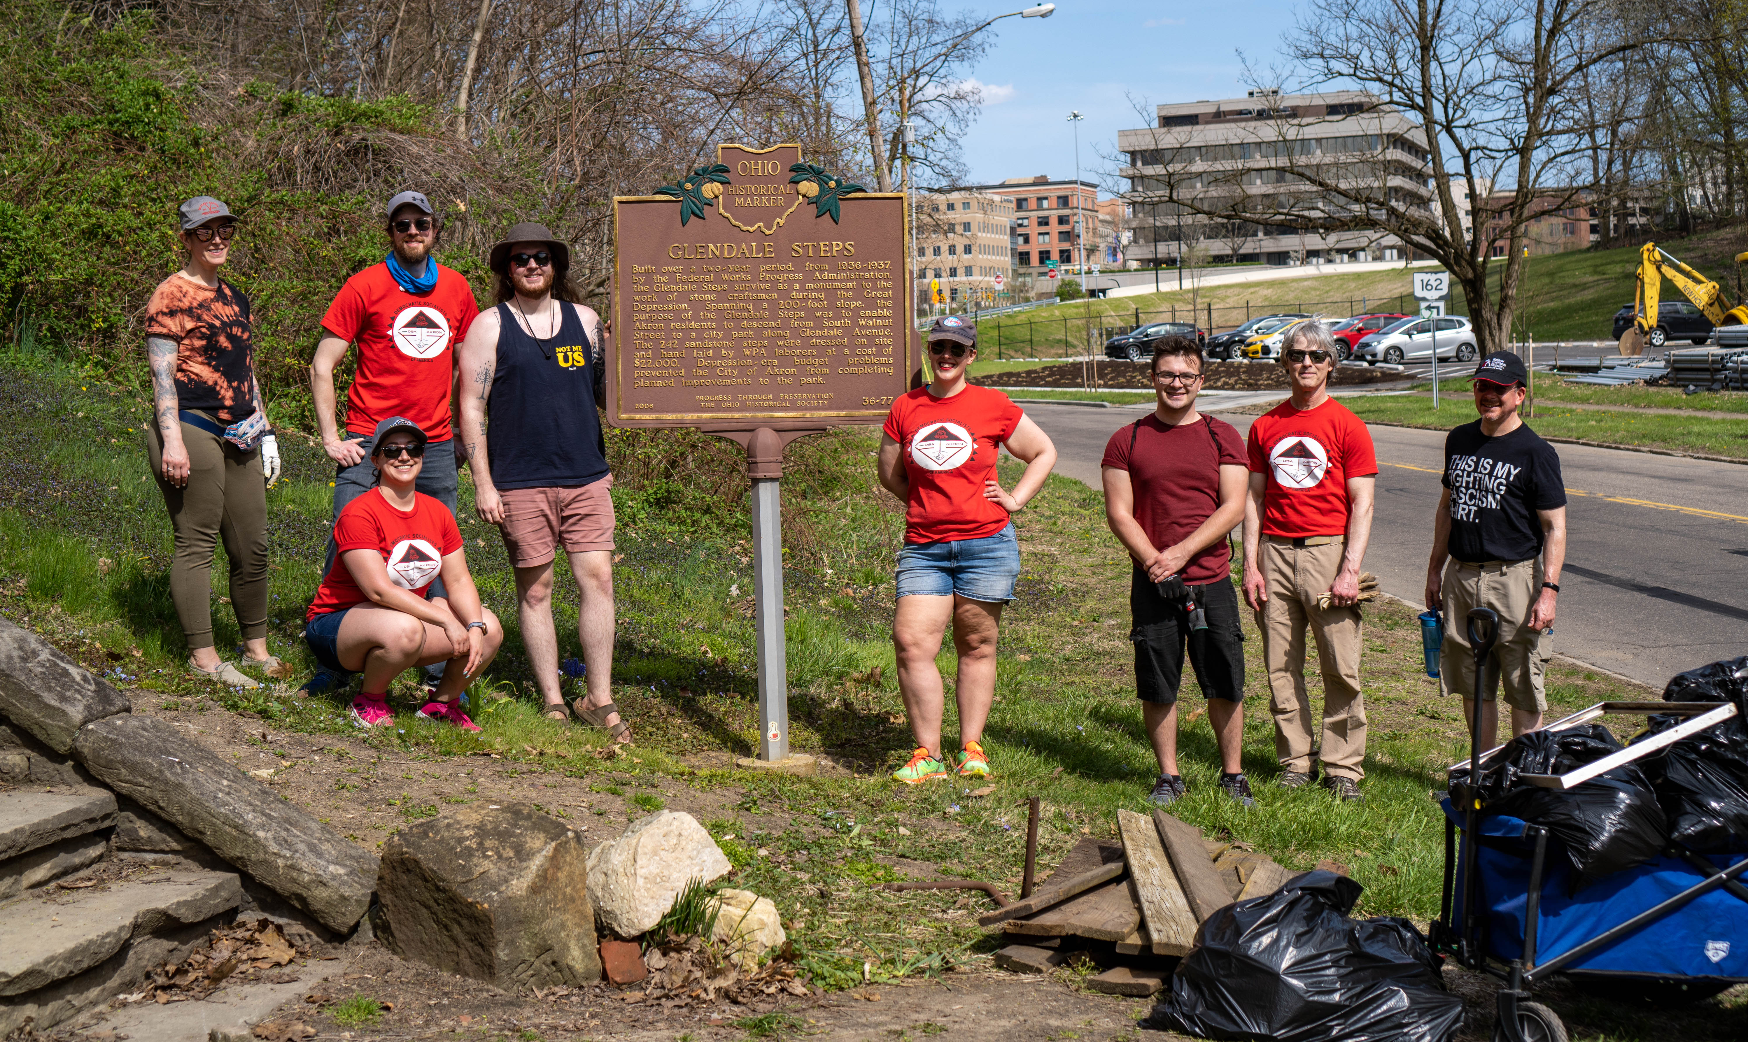
[[[1145,409],[1026,406],[1056,442],[1056,470],[1099,486],[1113,430]],[[1220,414],[1239,432],[1250,416]],[[1377,505],[1365,568],[1419,605],[1444,434],[1372,427]],[[1554,650],[1662,687],[1748,654],[1748,465],[1556,446],[1568,491],[1566,573]]]

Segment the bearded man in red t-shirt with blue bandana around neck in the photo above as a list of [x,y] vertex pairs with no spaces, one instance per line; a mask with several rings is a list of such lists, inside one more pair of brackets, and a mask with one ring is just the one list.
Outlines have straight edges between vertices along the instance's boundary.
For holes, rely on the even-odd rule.
[[[411,420],[430,439],[418,491],[439,500],[454,514],[456,467],[465,463],[460,439],[449,428],[454,400],[454,344],[479,315],[474,287],[460,271],[444,267],[430,250],[442,233],[442,220],[420,192],[400,192],[385,210],[390,252],[381,264],[353,274],[322,316],[322,341],[309,364],[309,388],[316,407],[322,448],[336,463],[334,521],[346,504],[376,486],[371,453],[376,425],[390,416]],[[358,369],[346,390],[346,427],[336,421],[334,371],[351,344],[358,344]],[[323,572],[334,563],[329,540]],[[446,594],[442,579],[434,594]],[[430,670],[430,682],[442,666]],[[316,673],[309,692],[343,684],[346,677]]]

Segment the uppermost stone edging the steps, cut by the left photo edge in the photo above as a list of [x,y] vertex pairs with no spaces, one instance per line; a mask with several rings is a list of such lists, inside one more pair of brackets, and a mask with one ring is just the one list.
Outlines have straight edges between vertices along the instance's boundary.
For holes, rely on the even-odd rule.
[[28,629],[0,619],[0,717],[54,752],[73,748],[80,727],[128,713],[133,705]]

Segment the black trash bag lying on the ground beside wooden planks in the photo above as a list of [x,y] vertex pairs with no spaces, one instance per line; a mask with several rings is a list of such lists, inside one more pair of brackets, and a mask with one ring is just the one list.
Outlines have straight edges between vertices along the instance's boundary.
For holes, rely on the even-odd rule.
[[1196,930],[1143,1028],[1271,1042],[1446,1042],[1463,1000],[1407,920],[1349,920],[1362,886],[1306,872]]

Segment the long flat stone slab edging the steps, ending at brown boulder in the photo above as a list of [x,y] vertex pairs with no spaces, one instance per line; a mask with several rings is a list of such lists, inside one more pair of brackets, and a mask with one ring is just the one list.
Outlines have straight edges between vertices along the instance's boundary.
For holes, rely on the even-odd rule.
[[323,927],[350,932],[371,907],[374,855],[170,724],[133,713],[108,717],[79,731],[73,755],[100,782]]

